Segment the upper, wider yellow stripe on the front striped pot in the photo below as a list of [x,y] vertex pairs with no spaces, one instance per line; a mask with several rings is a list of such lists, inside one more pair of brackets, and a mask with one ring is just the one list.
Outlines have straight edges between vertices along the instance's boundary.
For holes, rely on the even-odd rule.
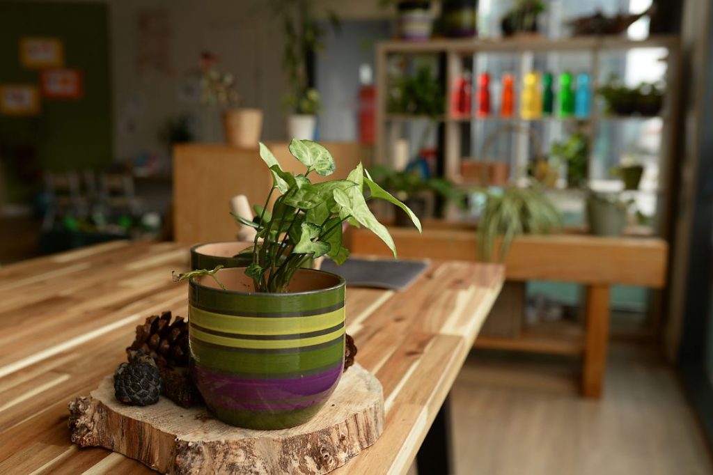
[[190,306],[188,320],[199,327],[225,333],[264,335],[309,333],[332,328],[344,322],[344,307],[309,317],[265,318],[221,315]]

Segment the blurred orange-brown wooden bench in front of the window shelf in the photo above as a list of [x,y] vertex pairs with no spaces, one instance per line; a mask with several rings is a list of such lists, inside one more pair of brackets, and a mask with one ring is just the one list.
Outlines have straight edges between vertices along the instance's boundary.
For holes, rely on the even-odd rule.
[[[458,225],[424,223],[415,229],[389,228],[399,257],[435,260],[477,260],[476,231]],[[360,255],[388,255],[373,233],[351,231],[350,250]],[[494,255],[497,254],[498,250]],[[515,239],[505,260],[506,280],[552,280],[585,286],[583,337],[543,339],[523,334],[517,339],[479,337],[476,347],[514,349],[583,357],[582,393],[601,397],[609,334],[612,285],[662,289],[666,285],[668,244],[653,237],[590,235],[522,236]]]

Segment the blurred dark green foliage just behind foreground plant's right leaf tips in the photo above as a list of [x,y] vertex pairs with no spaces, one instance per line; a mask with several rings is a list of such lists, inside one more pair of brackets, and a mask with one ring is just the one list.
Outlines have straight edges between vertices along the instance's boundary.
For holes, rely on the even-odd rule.
[[426,178],[419,170],[396,171],[385,165],[374,165],[370,170],[372,178],[381,188],[394,193],[401,201],[409,200],[422,192],[431,192],[444,200],[460,202],[464,195],[450,180]]

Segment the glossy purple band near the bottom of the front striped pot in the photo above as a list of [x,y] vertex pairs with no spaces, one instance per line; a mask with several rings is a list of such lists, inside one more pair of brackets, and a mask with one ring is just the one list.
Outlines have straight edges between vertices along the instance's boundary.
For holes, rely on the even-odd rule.
[[333,387],[342,375],[342,367],[334,367],[319,374],[291,379],[247,379],[211,372],[195,365],[193,379],[205,397],[220,394],[236,401],[257,399],[280,401],[311,396]]

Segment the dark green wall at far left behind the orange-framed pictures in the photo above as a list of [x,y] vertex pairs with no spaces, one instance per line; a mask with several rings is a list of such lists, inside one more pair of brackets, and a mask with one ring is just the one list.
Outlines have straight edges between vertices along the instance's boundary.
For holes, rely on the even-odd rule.
[[0,160],[11,202],[28,201],[45,170],[103,168],[113,160],[108,7],[0,1],[0,83],[39,86],[39,70],[20,64],[23,36],[63,41],[64,66],[83,72],[84,93],[76,101],[41,98],[38,116],[0,116]]

